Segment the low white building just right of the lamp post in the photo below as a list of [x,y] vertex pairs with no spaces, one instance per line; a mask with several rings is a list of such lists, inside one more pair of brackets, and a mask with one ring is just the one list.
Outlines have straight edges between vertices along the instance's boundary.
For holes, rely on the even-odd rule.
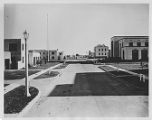
[[29,50],[28,55],[28,64],[30,66],[35,66],[41,61],[40,53],[37,50]]

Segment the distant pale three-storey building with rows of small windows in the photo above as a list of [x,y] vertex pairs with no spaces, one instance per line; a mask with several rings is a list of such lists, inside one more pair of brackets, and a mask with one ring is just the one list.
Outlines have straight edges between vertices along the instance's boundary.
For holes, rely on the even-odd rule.
[[108,57],[109,48],[108,46],[97,45],[94,47],[94,55],[95,58],[107,58]]

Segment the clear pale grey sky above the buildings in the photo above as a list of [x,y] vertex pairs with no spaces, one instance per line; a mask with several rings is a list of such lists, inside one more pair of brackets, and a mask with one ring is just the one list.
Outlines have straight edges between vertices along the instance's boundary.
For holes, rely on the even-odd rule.
[[58,49],[66,55],[87,54],[98,44],[110,48],[110,39],[116,35],[148,35],[148,23],[148,4],[5,4],[4,7],[5,39],[23,38],[26,29],[29,49]]

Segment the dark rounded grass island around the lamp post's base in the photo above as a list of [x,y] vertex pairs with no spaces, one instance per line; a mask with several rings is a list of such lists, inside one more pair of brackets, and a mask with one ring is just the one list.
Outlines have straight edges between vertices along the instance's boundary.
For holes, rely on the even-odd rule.
[[21,112],[25,106],[38,95],[38,89],[29,88],[31,97],[26,97],[25,86],[20,86],[4,95],[4,113],[13,114]]

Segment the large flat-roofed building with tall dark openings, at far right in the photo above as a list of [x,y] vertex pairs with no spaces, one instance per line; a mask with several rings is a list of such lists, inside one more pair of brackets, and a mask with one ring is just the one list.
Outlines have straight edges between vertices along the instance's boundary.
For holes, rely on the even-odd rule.
[[111,56],[122,60],[148,59],[148,36],[114,36]]

